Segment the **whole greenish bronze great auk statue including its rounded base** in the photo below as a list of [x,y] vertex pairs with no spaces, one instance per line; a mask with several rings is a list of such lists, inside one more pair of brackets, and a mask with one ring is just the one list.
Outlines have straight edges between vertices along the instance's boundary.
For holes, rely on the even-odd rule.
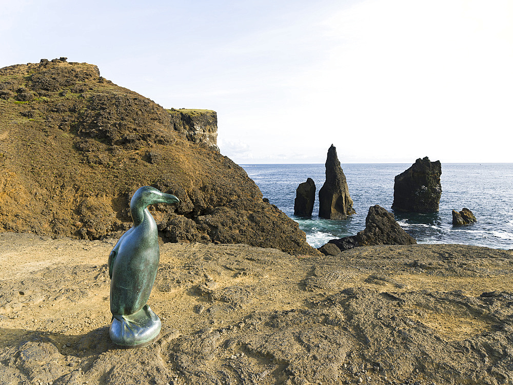
[[157,226],[147,207],[178,202],[174,195],[149,186],[137,190],[130,201],[133,226],[117,241],[108,261],[110,338],[117,345],[145,345],[160,333],[161,321],[146,304],[159,265]]

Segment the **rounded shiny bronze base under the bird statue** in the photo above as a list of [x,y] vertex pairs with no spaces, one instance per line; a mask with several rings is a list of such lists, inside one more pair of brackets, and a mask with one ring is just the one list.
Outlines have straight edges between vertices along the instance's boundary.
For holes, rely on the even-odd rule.
[[162,327],[159,317],[144,305],[135,314],[112,316],[109,335],[112,342],[122,348],[139,348],[155,341]]

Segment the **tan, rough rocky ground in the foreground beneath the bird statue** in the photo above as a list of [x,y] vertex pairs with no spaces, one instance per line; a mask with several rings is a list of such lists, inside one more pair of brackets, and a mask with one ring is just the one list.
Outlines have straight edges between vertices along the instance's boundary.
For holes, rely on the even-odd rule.
[[114,243],[0,234],[0,384],[513,381],[513,251],[165,243],[149,300],[161,338],[120,350]]

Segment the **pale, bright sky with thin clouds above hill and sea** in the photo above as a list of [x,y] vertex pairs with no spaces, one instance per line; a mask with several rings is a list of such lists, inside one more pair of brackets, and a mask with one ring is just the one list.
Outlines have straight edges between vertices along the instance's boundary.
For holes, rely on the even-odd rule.
[[0,67],[66,56],[213,109],[239,164],[513,162],[511,0],[0,0]]

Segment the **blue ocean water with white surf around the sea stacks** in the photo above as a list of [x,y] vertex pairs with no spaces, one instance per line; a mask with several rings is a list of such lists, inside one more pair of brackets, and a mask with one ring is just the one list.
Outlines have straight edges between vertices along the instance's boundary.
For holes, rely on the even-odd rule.
[[[241,165],[265,198],[299,223],[314,247],[332,238],[354,235],[365,228],[370,206],[389,211],[394,177],[411,164],[342,164],[356,214],[346,220],[321,219],[319,190],[325,181],[324,164]],[[315,205],[310,219],[294,216],[295,190],[310,177],[315,182]],[[513,248],[513,163],[442,164],[442,197],[435,214],[394,213],[396,220],[418,243],[462,243]],[[452,209],[469,208],[477,223],[452,226]],[[393,211],[392,211],[393,212]]]

